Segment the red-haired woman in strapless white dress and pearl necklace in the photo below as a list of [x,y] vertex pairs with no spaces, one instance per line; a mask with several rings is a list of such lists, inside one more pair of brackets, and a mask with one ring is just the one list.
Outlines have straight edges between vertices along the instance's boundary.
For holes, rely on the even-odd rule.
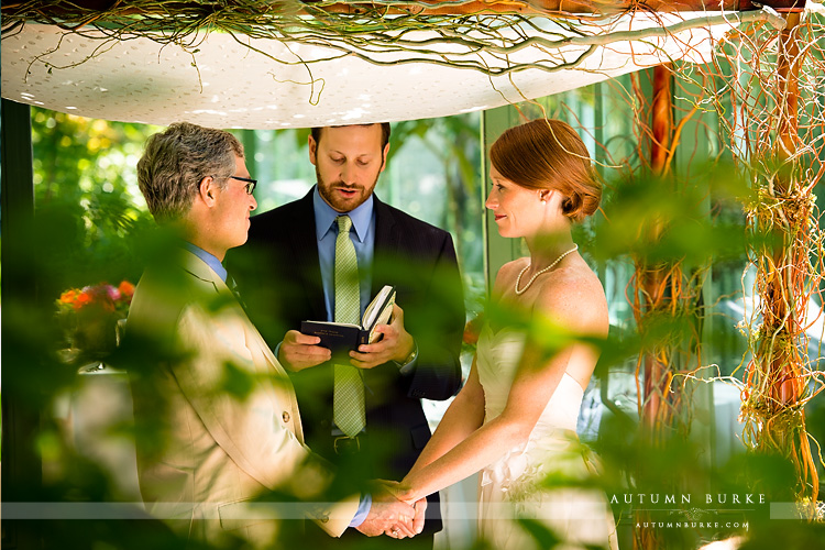
[[[530,250],[501,268],[494,302],[525,312],[531,327],[605,338],[604,289],[571,237],[571,224],[595,212],[602,195],[584,143],[566,123],[540,119],[507,130],[490,156],[485,206],[503,237],[522,237]],[[617,548],[603,494],[542,486],[549,475],[588,475],[575,425],[598,351],[568,341],[548,354],[538,340],[540,331],[485,323],[466,384],[396,496],[415,502],[481,472],[480,536],[492,548],[539,546],[518,518],[539,521],[563,548]]]

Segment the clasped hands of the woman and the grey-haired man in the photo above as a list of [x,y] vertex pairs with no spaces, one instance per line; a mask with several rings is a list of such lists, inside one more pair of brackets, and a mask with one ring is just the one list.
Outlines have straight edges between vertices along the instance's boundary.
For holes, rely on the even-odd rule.
[[394,539],[415,537],[424,529],[427,497],[405,502],[398,482],[378,480],[372,491],[373,504],[366,519],[355,529],[367,537],[386,535]]

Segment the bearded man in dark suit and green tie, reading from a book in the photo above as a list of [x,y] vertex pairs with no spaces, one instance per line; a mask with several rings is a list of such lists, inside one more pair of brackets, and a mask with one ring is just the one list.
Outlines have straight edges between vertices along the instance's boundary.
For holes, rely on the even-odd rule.
[[[375,195],[389,132],[388,123],[312,129],[317,185],[252,218],[248,244],[230,258],[250,316],[290,373],[307,442],[360,480],[400,479],[431,436],[421,399],[447,399],[461,385],[452,238]],[[378,342],[331,361],[299,331],[307,320],[359,323],[384,285],[396,306]],[[435,494],[424,534],[398,543],[431,547],[440,529]]]

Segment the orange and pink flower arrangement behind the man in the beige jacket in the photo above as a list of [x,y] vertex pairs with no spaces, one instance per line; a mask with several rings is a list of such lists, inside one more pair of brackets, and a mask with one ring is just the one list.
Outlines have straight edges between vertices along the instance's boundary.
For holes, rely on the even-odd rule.
[[55,301],[57,317],[63,326],[68,356],[84,362],[100,361],[118,344],[118,320],[127,317],[132,302],[134,285],[122,280],[69,288]]

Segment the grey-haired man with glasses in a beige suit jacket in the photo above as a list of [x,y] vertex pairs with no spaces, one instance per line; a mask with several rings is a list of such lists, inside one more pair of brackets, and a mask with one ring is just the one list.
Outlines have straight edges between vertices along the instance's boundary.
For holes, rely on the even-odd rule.
[[[275,514],[297,512],[332,537],[411,532],[414,508],[386,491],[328,502],[333,475],[304,444],[293,386],[228,286],[221,262],[257,206],[239,141],[173,124],[147,141],[138,179],[157,223],[182,237],[144,273],[127,324],[135,424],[152,428],[138,441],[147,512],[183,537],[254,548],[283,535]],[[253,502],[271,492],[314,504]]]

